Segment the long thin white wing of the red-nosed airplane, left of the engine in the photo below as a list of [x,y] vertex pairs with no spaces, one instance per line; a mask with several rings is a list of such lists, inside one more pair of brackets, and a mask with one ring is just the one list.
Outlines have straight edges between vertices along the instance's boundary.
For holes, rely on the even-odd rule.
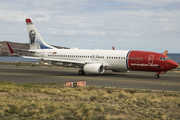
[[84,65],[84,64],[85,64],[85,62],[82,62],[82,61],[73,61],[73,60],[62,60],[62,59],[30,57],[30,56],[23,56],[23,58],[30,58],[30,59],[37,59],[37,60],[51,61],[51,62],[73,63],[73,64],[81,64],[81,65]]

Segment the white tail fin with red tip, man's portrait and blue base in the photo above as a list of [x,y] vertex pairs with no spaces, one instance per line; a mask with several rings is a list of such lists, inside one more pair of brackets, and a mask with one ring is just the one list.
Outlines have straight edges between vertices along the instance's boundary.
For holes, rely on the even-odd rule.
[[57,48],[50,46],[44,42],[44,40],[42,39],[41,35],[37,31],[36,27],[33,25],[30,18],[26,18],[26,26],[27,26],[27,31],[28,31],[28,35],[29,35],[29,44],[30,44],[31,50],[57,49]]

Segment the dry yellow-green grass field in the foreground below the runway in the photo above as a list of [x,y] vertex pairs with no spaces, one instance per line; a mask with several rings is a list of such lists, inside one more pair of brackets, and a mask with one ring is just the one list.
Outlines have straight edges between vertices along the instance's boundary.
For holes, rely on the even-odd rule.
[[0,119],[180,119],[180,93],[0,82]]

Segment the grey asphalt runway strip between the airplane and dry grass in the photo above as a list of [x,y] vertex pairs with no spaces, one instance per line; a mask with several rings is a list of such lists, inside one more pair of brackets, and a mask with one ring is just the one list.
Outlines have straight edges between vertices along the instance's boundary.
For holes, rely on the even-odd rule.
[[0,81],[15,84],[57,83],[85,80],[88,86],[180,91],[180,72],[167,72],[155,79],[154,72],[117,73],[106,71],[102,75],[79,76],[75,68],[17,67],[0,65]]

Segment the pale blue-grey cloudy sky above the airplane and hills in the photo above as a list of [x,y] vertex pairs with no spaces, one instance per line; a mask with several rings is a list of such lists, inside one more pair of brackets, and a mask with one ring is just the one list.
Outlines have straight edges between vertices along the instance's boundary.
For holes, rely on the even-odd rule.
[[180,53],[180,0],[0,0],[0,41]]

